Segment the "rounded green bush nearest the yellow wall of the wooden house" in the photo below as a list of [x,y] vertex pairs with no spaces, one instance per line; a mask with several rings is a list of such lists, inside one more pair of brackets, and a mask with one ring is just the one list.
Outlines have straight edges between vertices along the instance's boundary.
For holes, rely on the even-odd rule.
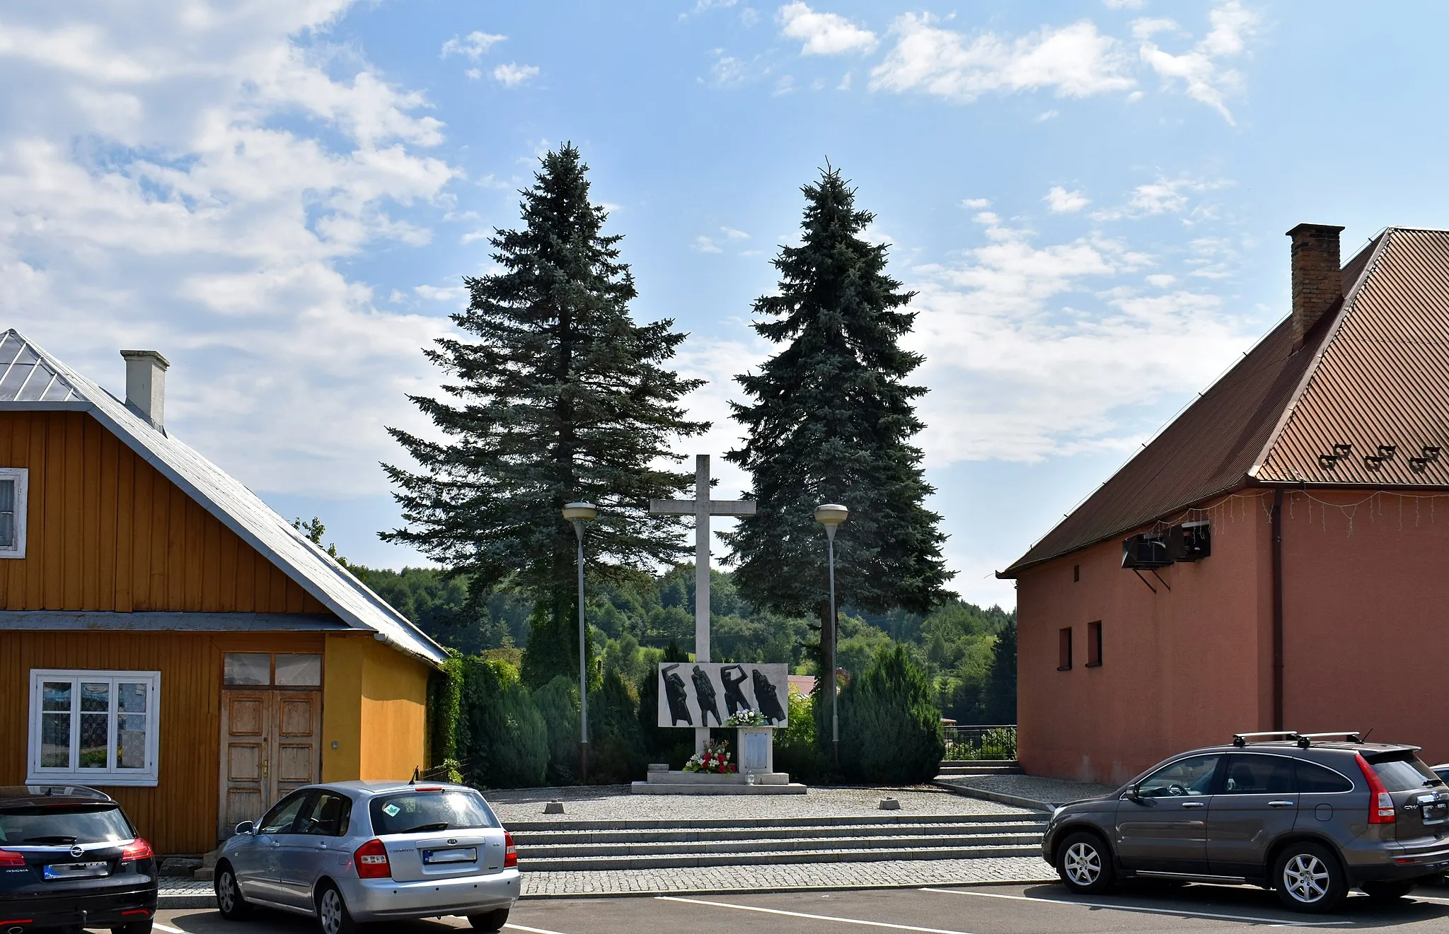
[[519,682],[517,669],[478,657],[462,660],[458,749],[467,776],[485,788],[543,783],[548,730]]

